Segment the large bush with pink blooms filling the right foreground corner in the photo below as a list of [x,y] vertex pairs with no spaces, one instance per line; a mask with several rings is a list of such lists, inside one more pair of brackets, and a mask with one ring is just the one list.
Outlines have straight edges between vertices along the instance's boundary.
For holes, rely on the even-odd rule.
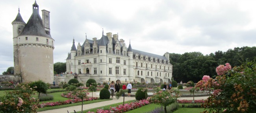
[[226,63],[216,68],[219,76],[207,82],[201,80],[196,87],[212,91],[205,101],[204,113],[256,113],[256,62],[246,62],[239,67]]

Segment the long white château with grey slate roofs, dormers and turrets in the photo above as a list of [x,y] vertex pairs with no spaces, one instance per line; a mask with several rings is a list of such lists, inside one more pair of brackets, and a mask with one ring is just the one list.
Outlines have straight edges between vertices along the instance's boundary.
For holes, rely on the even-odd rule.
[[74,43],[66,59],[67,73],[74,74],[85,83],[93,78],[97,83],[120,80],[121,82],[169,82],[173,65],[169,53],[164,56],[128,48],[118,34],[102,31],[100,39],[85,39],[77,48]]

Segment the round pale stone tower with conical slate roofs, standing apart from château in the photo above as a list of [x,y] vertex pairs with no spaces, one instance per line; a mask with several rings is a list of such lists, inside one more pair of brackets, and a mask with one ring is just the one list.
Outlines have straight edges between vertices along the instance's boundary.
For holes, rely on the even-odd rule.
[[20,10],[11,23],[13,25],[14,74],[22,82],[43,80],[52,83],[54,80],[53,50],[54,39],[50,35],[50,12],[32,5],[33,13],[27,23],[20,15]]

